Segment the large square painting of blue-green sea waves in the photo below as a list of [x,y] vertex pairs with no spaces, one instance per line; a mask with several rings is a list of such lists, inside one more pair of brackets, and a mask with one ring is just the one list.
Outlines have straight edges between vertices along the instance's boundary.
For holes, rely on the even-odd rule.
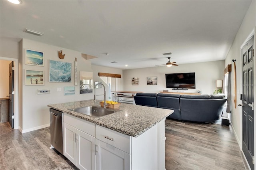
[[50,82],[71,82],[71,63],[50,60]]

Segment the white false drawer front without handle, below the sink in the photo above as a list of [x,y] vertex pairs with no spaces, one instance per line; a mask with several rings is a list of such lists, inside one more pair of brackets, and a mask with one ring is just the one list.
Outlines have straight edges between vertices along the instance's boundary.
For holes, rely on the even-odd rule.
[[95,137],[95,123],[64,113],[63,122]]

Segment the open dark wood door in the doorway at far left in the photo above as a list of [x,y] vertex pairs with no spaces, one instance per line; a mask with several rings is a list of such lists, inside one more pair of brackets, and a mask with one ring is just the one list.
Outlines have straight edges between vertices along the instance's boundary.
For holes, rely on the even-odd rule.
[[9,64],[9,123],[14,128],[14,62]]

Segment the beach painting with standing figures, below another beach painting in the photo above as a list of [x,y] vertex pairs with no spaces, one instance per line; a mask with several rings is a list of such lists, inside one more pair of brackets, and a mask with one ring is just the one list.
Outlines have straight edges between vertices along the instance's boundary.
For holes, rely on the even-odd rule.
[[25,85],[44,85],[44,71],[26,70]]

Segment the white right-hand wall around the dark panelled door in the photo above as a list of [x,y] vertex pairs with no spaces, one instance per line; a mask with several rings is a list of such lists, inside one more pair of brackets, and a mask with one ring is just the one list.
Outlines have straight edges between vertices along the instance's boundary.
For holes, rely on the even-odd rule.
[[[242,92],[242,59],[240,54],[240,47],[248,38],[250,33],[255,29],[256,26],[256,2],[252,1],[246,16],[244,17],[244,20],[236,34],[236,38],[230,48],[230,51],[228,52],[228,55],[225,59],[225,66],[228,64],[232,64],[232,113],[231,113],[231,124],[234,128],[234,132],[236,134],[238,144],[240,145],[240,148],[242,148],[242,108],[236,107],[234,108],[234,64],[232,62],[232,59],[236,59],[236,93],[237,93],[237,105],[241,103],[240,101],[240,93]],[[255,77],[255,63],[256,60],[254,58],[254,77]],[[254,79],[254,85],[255,83]],[[255,96],[255,89],[254,89],[254,96]],[[255,125],[255,119],[254,119],[254,125]],[[255,134],[255,130],[254,130]],[[255,136],[255,135],[254,135]],[[255,140],[254,140],[255,141]]]

